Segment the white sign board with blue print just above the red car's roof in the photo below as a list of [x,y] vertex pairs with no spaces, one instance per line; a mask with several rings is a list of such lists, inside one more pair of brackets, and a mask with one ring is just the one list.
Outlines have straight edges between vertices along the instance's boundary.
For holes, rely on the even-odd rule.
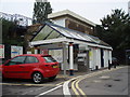
[[11,57],[22,54],[23,54],[23,46],[11,46]]

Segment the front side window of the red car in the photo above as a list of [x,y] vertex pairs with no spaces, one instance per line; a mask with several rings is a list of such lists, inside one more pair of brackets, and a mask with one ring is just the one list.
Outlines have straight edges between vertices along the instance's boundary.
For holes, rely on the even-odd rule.
[[18,56],[10,60],[5,66],[24,64],[26,56]]

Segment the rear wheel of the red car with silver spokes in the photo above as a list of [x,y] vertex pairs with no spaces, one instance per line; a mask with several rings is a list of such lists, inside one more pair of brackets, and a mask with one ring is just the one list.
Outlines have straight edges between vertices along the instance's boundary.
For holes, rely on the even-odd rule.
[[35,72],[32,74],[32,81],[36,84],[42,83],[43,82],[43,75],[40,72]]

